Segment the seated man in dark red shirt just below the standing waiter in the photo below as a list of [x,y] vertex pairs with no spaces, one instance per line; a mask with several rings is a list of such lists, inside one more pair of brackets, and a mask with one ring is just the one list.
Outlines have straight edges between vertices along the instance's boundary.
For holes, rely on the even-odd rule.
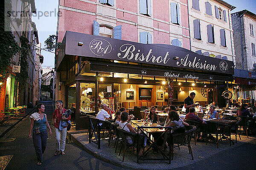
[[[199,122],[201,124],[206,124],[206,122],[204,122],[203,119],[200,119],[198,116],[195,115],[195,108],[189,108],[189,113],[186,114],[186,119],[187,120],[193,120],[193,121],[196,121],[196,122]],[[206,132],[205,132],[205,126],[204,125],[201,125],[200,126],[201,130],[202,130],[202,137],[199,138],[201,136],[201,132],[198,134],[198,138],[197,141],[198,142],[204,142],[204,138],[206,138]]]

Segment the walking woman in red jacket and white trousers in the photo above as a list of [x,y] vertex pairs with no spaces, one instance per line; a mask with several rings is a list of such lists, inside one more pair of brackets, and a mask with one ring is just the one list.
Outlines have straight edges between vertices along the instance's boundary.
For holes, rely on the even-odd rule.
[[55,156],[58,155],[59,151],[61,151],[61,155],[65,155],[65,141],[67,136],[67,126],[60,127],[60,122],[62,121],[68,121],[70,120],[70,115],[65,118],[64,113],[67,111],[67,109],[63,108],[63,102],[61,100],[56,101],[56,110],[54,111],[52,115],[52,119],[55,122],[55,133],[56,133],[56,151],[54,153]]

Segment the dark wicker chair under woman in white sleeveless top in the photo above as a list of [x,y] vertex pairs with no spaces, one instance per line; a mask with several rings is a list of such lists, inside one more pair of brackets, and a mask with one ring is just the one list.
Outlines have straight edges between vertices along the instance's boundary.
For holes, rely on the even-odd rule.
[[[121,128],[117,127],[117,132],[119,132],[119,134],[121,135],[122,137],[122,145],[121,145],[121,148],[120,148],[120,151],[119,151],[119,156],[121,154],[121,151],[122,151],[122,147],[124,146],[124,154],[123,154],[123,159],[122,161],[124,161],[125,159],[125,151],[126,151],[126,147],[133,147],[133,149],[135,147],[137,147],[137,134],[135,133],[132,133],[132,132],[128,132],[128,131],[125,131],[125,130],[122,130]],[[128,143],[128,141],[126,140],[126,137],[129,136],[131,138],[131,143]],[[141,138],[139,140],[139,145],[140,147],[143,147],[143,150],[144,150],[144,136],[143,135],[139,135]],[[143,140],[142,140],[143,139]],[[139,152],[139,150],[137,150],[137,152]]]

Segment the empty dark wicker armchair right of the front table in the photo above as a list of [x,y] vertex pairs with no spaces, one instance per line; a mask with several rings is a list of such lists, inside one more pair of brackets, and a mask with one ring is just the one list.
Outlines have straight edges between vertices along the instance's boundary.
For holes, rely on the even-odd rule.
[[172,160],[173,160],[173,148],[174,148],[174,144],[178,144],[176,147],[179,147],[181,145],[186,146],[189,148],[189,154],[191,154],[192,156],[192,160],[194,160],[193,157],[193,153],[192,153],[192,149],[191,149],[191,138],[192,138],[192,134],[193,132],[196,130],[195,126],[188,126],[186,127],[186,131],[184,133],[175,133],[175,134],[171,134],[170,138],[169,138],[169,144],[171,146],[171,154],[172,154]]

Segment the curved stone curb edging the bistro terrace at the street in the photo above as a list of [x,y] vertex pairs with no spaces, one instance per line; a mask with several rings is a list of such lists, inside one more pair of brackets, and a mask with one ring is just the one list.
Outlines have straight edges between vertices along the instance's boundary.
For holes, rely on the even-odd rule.
[[125,162],[120,163],[120,161],[116,161],[114,159],[111,159],[99,152],[95,152],[93,150],[90,149],[90,147],[86,146],[86,144],[83,144],[82,142],[80,142],[79,140],[77,140],[73,135],[72,132],[67,132],[67,138],[70,139],[72,142],[74,142],[74,144],[76,144],[77,146],[81,147],[83,150],[85,150],[87,153],[89,153],[90,155],[96,157],[97,159],[100,159],[102,161],[105,161],[107,163],[113,164],[115,166],[118,167],[123,167],[123,168],[127,168],[127,169],[131,169],[131,170],[153,170],[153,169],[147,169],[147,168],[141,168],[141,167],[137,167],[136,165],[134,167],[131,167],[130,164],[126,164]]

